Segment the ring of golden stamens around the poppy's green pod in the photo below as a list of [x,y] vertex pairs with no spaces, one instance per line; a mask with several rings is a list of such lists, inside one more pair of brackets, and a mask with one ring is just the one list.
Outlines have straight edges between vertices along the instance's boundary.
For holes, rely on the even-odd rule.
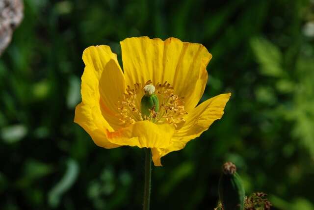
[[[155,95],[159,107],[153,106],[149,112],[142,113],[141,99],[145,96],[156,97]],[[135,83],[133,88],[128,85],[123,99],[118,102],[118,110],[119,120],[123,125],[149,120],[156,124],[172,124],[177,128],[185,122],[183,116],[187,114],[184,110],[183,98],[174,94],[173,87],[167,81],[153,85],[151,80],[143,86],[140,83]]]

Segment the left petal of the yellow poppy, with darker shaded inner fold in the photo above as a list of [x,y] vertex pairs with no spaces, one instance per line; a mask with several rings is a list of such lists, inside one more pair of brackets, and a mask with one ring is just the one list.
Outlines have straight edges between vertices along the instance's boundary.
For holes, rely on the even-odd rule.
[[92,46],[84,50],[82,58],[85,63],[81,78],[82,102],[76,107],[74,122],[87,131],[98,146],[119,147],[121,145],[106,137],[106,131],[119,128],[115,103],[125,90],[117,56],[108,46]]

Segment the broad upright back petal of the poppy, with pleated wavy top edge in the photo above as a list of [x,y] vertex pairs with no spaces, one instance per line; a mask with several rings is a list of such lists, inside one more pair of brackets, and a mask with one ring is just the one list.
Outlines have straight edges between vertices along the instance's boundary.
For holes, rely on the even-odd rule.
[[211,54],[201,44],[176,38],[132,37],[120,42],[126,82],[154,84],[168,81],[174,93],[184,97],[185,110],[192,110],[201,99],[207,83],[206,66]]

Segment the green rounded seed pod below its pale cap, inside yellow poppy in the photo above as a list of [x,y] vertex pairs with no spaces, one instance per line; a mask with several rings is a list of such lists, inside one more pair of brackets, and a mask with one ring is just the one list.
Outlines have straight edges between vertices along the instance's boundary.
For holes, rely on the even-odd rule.
[[145,94],[142,99],[141,99],[141,112],[142,112],[142,116],[143,118],[149,117],[152,109],[154,108],[155,112],[158,112],[159,110],[159,101],[158,101],[158,97],[155,94],[149,95],[149,94]]

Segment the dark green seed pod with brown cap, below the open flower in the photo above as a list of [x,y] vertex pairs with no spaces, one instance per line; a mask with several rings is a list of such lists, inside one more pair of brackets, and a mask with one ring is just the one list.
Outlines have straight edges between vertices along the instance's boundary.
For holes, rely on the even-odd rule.
[[224,210],[244,210],[244,187],[232,162],[223,165],[218,187]]

